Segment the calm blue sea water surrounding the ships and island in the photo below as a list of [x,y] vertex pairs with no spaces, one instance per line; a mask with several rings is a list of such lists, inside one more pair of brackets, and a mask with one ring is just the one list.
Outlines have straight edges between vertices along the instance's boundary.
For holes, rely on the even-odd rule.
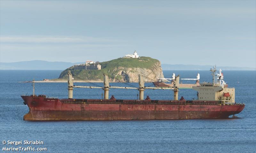
[[[0,71],[0,152],[3,147],[47,148],[46,152],[256,152],[256,72],[224,71],[229,87],[236,88],[236,102],[246,104],[237,119],[150,120],[150,121],[23,121],[28,107],[21,94],[32,94],[28,80],[58,78],[61,71]],[[209,71],[164,71],[181,78],[211,81]],[[193,83],[185,82],[183,83]],[[239,83],[238,83],[239,82]],[[75,83],[75,85],[90,85]],[[96,83],[102,86],[102,83]],[[112,86],[126,86],[110,83]],[[137,83],[132,83],[137,86]],[[147,86],[152,83],[147,83]],[[92,85],[90,85],[92,86]],[[36,94],[67,98],[67,83],[36,83]],[[75,89],[74,98],[101,98],[100,89]],[[117,99],[137,99],[137,90],[111,89]],[[169,90],[146,90],[145,97],[173,99]],[[180,89],[179,96],[196,98],[192,89]],[[43,141],[44,145],[3,145],[2,141]],[[19,152],[19,151],[9,151]],[[29,152],[29,151],[28,151]]]

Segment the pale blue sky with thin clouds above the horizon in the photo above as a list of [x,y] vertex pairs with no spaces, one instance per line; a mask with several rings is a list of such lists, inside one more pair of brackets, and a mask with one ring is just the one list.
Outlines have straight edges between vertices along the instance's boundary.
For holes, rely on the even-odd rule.
[[0,1],[0,61],[256,67],[256,1]]

